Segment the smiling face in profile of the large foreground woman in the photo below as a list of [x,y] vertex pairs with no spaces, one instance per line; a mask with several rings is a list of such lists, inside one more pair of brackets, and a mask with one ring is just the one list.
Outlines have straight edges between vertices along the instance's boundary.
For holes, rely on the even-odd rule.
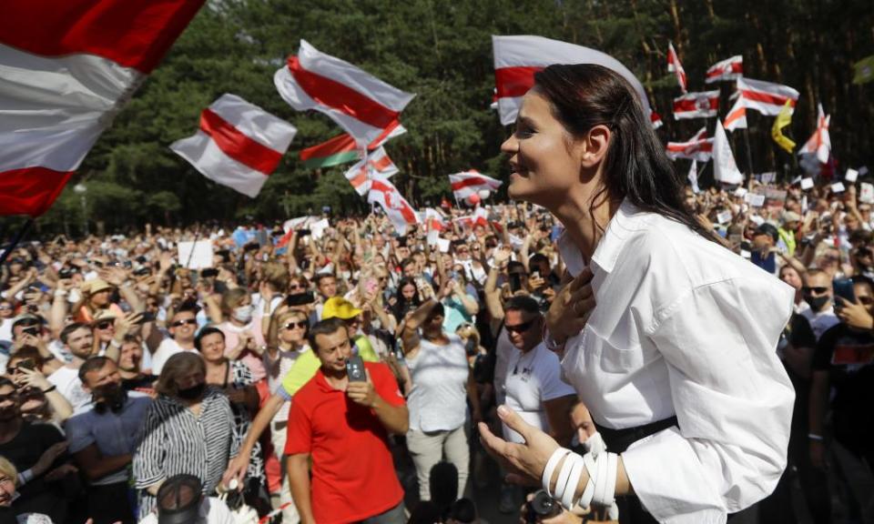
[[535,89],[524,96],[515,132],[501,150],[510,156],[507,193],[515,200],[554,208],[580,182],[582,147],[570,142],[550,103]]

